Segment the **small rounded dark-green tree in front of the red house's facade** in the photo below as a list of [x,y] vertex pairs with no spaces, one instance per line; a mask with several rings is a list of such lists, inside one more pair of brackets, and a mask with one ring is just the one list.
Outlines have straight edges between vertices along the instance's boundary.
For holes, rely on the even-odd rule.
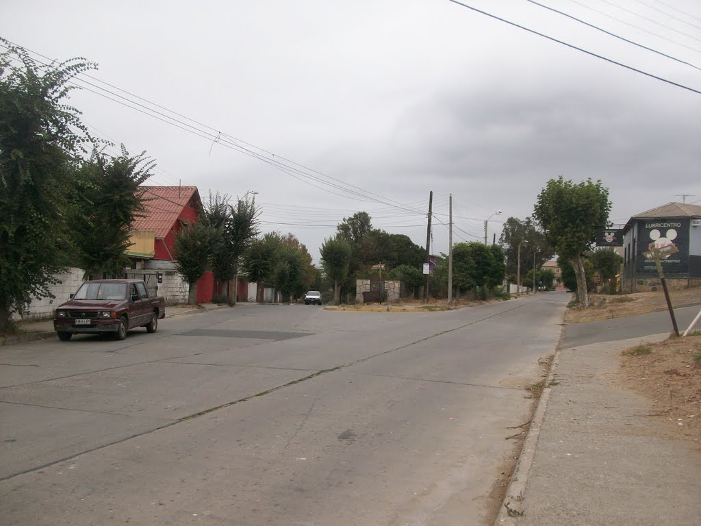
[[191,224],[175,235],[175,268],[190,285],[187,302],[197,303],[197,281],[207,270],[217,234],[205,222]]

